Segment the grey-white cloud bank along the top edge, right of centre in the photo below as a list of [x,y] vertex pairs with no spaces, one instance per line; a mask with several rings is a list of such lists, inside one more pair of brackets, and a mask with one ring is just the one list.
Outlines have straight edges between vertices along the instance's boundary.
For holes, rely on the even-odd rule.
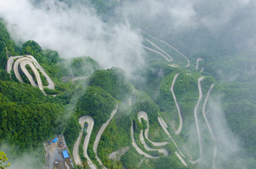
[[123,9],[132,21],[146,23],[158,33],[169,35],[201,26],[215,31],[247,4],[250,0],[139,0],[124,1]]

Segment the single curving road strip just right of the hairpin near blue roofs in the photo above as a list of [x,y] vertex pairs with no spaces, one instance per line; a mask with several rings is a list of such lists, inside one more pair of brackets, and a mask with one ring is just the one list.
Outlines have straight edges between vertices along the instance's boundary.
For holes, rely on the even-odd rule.
[[[118,105],[117,105],[117,108],[118,108]],[[100,138],[101,138],[101,136],[102,136],[102,133],[105,131],[107,125],[108,125],[108,124],[110,123],[110,121],[113,119],[114,114],[117,113],[117,108],[112,111],[111,116],[110,116],[110,119],[108,119],[105,124],[102,124],[102,127],[101,127],[100,130],[98,131],[97,136],[96,136],[96,138],[95,138],[95,142],[93,143],[93,151],[95,152],[97,161],[100,163],[100,165],[103,165],[103,164],[102,164],[102,161],[100,160],[99,156],[97,156],[97,146],[99,145],[99,142],[100,142]],[[103,165],[103,168],[106,168],[106,167]]]

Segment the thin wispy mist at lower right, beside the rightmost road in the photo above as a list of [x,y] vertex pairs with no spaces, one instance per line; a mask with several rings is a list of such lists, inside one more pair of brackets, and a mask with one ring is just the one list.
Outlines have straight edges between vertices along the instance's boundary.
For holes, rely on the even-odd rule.
[[[208,109],[210,124],[218,148],[216,168],[249,168],[245,163],[245,159],[249,156],[246,155],[242,146],[240,146],[238,136],[235,136],[230,131],[220,102],[220,96],[209,99]],[[207,145],[205,146],[206,148],[208,147]],[[205,165],[207,164],[206,162],[204,163]]]

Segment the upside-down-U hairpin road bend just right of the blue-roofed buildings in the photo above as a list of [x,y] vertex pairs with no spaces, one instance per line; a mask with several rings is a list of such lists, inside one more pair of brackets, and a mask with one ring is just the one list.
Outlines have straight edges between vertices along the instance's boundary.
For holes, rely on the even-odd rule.
[[73,148],[73,157],[74,157],[76,165],[82,164],[82,161],[79,156],[79,145],[80,145],[80,141],[81,141],[81,137],[82,137],[82,131],[85,126],[85,122],[88,123],[88,126],[87,126],[87,135],[85,136],[85,142],[84,142],[84,145],[82,146],[82,150],[84,151],[83,154],[84,154],[85,158],[87,158],[87,164],[90,166],[90,168],[97,169],[87,154],[87,146],[90,141],[92,128],[94,126],[94,121],[91,116],[81,116],[79,119],[79,124],[82,126],[82,130],[80,131],[77,141],[75,141],[74,148]]

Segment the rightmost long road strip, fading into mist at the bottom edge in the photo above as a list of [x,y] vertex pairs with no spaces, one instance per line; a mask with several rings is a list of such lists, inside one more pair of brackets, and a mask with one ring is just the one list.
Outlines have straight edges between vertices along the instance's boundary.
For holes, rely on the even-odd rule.
[[208,119],[207,119],[207,117],[206,117],[206,104],[207,104],[207,102],[208,102],[208,99],[209,99],[209,97],[210,97],[210,92],[212,91],[213,87],[214,87],[214,84],[211,84],[211,85],[210,85],[210,89],[209,89],[208,92],[207,92],[206,99],[205,99],[205,101],[203,102],[203,117],[204,117],[204,119],[206,120],[206,124],[207,124],[207,126],[208,126],[209,131],[210,131],[210,135],[212,136],[213,141],[214,141],[214,144],[215,144],[215,145],[214,145],[214,151],[213,151],[213,168],[215,168],[215,162],[216,162],[216,157],[217,157],[216,139],[215,139],[215,136],[214,136],[214,134],[213,134],[212,129],[210,128],[210,123],[209,123],[209,121],[208,121]]

